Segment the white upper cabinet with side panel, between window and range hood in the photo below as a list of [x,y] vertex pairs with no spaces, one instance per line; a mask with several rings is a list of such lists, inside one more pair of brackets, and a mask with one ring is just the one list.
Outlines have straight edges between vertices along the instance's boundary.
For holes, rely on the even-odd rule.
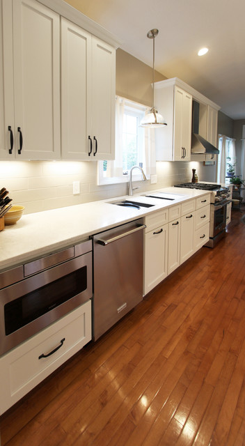
[[155,132],[156,158],[159,161],[189,161],[191,157],[192,96],[175,82],[155,84],[155,105],[167,125]]

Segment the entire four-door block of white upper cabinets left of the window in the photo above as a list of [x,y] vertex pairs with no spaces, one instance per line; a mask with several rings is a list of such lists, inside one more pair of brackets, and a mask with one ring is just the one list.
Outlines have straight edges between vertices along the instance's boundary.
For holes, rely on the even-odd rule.
[[0,159],[113,160],[117,44],[68,3],[0,0]]

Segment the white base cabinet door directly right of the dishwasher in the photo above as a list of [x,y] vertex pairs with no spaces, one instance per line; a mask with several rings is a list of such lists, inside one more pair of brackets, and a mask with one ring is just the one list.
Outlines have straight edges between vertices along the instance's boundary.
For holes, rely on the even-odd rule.
[[168,272],[168,224],[145,234],[144,263],[144,294],[147,294]]

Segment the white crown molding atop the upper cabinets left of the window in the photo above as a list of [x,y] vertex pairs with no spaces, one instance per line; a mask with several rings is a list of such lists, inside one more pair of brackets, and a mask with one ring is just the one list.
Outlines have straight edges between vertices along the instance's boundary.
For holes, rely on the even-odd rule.
[[59,15],[62,15],[66,19],[70,20],[74,24],[81,26],[81,28],[93,34],[97,38],[104,40],[104,42],[109,43],[109,45],[114,48],[120,47],[122,45],[122,41],[118,40],[113,33],[107,31],[103,26],[100,26],[89,17],[81,13],[73,6],[70,6],[64,0],[38,0],[39,3],[47,6],[49,9],[54,10]]

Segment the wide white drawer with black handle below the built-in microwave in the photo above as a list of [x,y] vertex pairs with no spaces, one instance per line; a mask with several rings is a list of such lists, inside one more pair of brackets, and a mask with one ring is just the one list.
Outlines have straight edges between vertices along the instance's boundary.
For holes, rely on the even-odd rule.
[[[0,358],[0,415],[91,339],[91,302]],[[57,348],[61,346],[60,348]],[[48,355],[54,351],[53,354]],[[42,357],[42,354],[48,355]]]

